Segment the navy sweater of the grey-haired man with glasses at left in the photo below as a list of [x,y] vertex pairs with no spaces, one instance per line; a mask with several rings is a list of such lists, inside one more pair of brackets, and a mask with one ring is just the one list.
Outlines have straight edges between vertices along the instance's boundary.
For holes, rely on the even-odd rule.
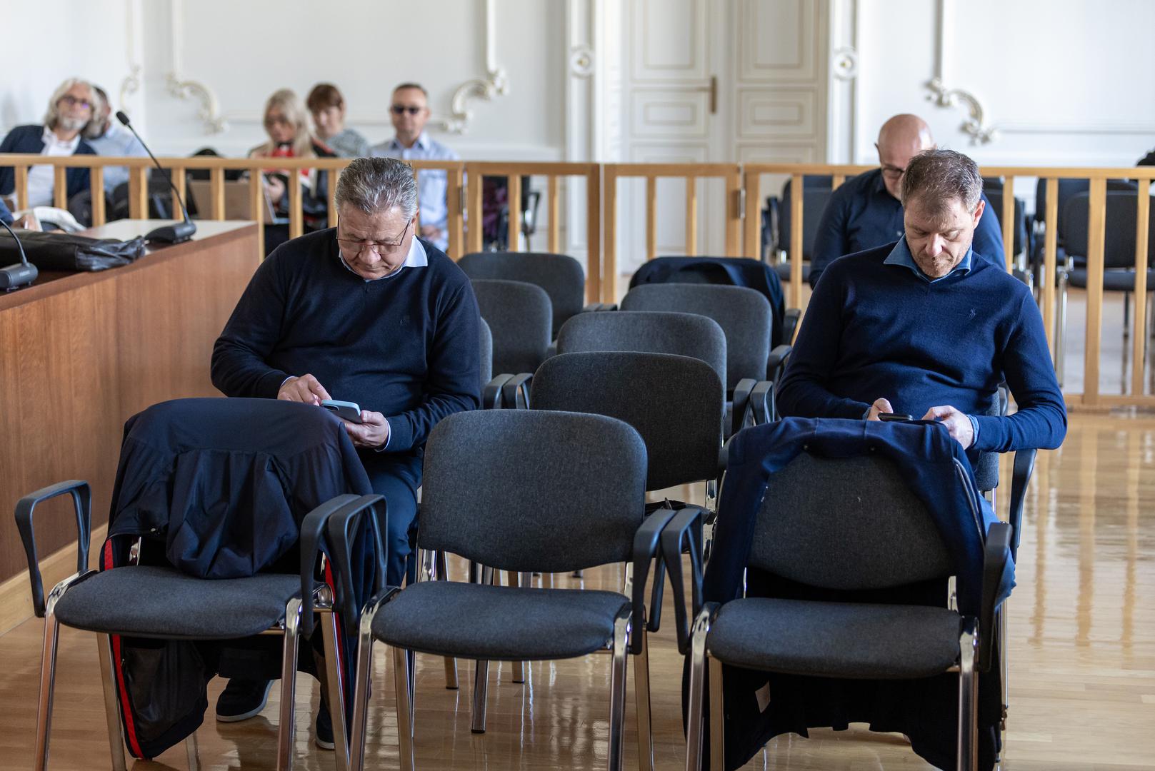
[[277,247],[213,349],[213,384],[276,398],[286,377],[312,374],[385,414],[388,452],[423,446],[439,420],[480,406],[480,316],[465,274],[422,244],[427,267],[371,282],[341,261],[335,229]]

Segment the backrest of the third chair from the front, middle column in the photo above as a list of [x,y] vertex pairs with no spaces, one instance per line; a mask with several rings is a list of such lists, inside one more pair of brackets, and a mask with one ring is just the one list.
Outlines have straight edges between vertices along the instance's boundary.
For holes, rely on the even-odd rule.
[[725,380],[725,332],[692,313],[580,313],[558,332],[558,353],[635,351],[700,359]]

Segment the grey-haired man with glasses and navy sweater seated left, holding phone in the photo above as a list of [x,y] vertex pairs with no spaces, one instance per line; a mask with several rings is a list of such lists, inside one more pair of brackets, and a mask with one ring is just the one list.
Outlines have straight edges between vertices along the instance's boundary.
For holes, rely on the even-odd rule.
[[[388,503],[388,582],[400,585],[425,440],[446,416],[480,406],[480,316],[465,274],[417,238],[408,164],[352,160],[336,203],[337,227],[281,245],[258,268],[213,350],[213,383],[226,396],[362,407],[362,422],[344,425]],[[267,693],[266,681],[231,681],[217,719],[253,717]],[[322,718],[318,743],[331,749]]]

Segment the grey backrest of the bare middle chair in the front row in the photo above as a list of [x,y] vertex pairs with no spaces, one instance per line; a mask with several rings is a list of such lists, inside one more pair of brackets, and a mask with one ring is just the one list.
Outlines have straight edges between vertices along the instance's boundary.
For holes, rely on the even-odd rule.
[[613,418],[478,410],[425,446],[417,544],[500,570],[565,572],[629,559],[646,446]]

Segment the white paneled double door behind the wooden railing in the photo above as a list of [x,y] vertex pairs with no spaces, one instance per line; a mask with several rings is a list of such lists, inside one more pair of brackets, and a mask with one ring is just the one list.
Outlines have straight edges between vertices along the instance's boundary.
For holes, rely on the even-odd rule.
[[[617,7],[621,35],[611,39],[626,48],[624,160],[825,159],[828,0],[625,0]],[[699,181],[696,190],[691,250],[724,254],[723,185]],[[685,254],[686,181],[663,179],[657,193],[657,252]],[[644,185],[621,182],[619,195],[619,265],[628,271],[644,260]]]

